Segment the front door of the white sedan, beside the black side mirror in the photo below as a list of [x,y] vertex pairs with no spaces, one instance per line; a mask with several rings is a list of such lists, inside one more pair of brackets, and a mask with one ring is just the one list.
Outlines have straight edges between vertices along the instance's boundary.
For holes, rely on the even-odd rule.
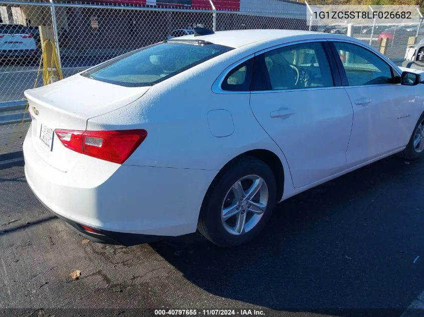
[[330,46],[354,111],[347,164],[405,146],[416,123],[415,87],[400,85],[397,71],[364,46],[339,41]]

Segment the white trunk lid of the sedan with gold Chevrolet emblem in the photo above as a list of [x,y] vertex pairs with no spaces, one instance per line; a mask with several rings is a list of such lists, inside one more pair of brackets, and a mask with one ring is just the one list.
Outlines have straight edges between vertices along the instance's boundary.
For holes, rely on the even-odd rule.
[[54,130],[85,130],[89,118],[123,107],[143,96],[149,88],[122,87],[75,75],[27,90],[36,151],[49,165],[68,171],[81,154],[67,149]]

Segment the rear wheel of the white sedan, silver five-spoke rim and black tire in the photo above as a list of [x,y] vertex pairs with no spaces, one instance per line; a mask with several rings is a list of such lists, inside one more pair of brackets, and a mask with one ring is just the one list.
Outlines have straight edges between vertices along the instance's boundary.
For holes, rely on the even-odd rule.
[[218,246],[244,244],[259,234],[271,216],[275,177],[267,164],[250,156],[221,173],[204,199],[198,229]]

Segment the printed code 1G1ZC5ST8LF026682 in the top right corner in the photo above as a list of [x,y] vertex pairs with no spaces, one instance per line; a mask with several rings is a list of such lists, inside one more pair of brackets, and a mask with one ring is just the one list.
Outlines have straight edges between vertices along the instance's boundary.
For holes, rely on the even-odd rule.
[[314,12],[315,19],[412,19],[409,11],[321,11]]

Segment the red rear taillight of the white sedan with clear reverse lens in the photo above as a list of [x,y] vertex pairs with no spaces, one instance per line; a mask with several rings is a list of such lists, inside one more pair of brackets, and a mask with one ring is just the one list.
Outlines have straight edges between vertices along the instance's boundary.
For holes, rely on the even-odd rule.
[[68,149],[102,160],[122,164],[146,139],[147,131],[78,131],[56,129],[56,135]]

